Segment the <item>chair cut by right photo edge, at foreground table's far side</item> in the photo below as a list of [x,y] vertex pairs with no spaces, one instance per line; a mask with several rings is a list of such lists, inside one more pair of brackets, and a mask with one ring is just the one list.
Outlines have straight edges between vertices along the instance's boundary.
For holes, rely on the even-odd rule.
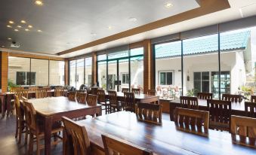
[[231,116],[233,143],[256,148],[256,118]]

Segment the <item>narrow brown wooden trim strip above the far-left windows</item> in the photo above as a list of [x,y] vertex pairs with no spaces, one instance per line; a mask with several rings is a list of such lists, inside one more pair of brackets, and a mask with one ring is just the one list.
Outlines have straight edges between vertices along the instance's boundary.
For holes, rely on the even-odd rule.
[[26,54],[26,53],[9,53],[9,56],[24,57],[24,58],[35,58],[35,59],[49,59],[49,60],[64,61],[64,58],[62,58],[62,57],[54,57],[54,56],[40,56],[40,55],[35,55],[35,54]]

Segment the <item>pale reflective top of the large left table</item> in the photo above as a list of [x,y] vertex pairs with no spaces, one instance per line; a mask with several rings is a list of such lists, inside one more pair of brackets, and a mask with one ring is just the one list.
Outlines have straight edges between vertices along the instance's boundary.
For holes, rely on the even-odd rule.
[[[85,104],[69,101],[67,97],[48,97],[43,99],[29,99],[35,111],[44,116],[64,113],[66,111],[76,111],[83,108],[92,108]],[[101,106],[101,105],[97,105]]]

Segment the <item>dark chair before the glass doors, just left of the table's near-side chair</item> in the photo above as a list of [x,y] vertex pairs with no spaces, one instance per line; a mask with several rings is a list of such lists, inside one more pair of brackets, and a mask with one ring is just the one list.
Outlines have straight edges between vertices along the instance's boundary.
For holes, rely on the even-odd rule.
[[117,100],[117,95],[116,95],[116,91],[115,90],[109,90],[109,112],[116,112],[116,111],[120,111],[122,108],[121,102],[119,102]]

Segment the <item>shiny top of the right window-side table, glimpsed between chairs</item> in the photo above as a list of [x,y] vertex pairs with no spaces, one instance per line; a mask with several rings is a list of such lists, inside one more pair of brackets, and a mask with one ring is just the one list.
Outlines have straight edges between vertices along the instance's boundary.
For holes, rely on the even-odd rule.
[[[180,99],[175,99],[170,101],[170,103],[180,104]],[[207,107],[207,100],[198,99],[198,104],[199,106]],[[245,100],[242,100],[242,102],[231,102],[231,109],[237,111],[245,111]]]

